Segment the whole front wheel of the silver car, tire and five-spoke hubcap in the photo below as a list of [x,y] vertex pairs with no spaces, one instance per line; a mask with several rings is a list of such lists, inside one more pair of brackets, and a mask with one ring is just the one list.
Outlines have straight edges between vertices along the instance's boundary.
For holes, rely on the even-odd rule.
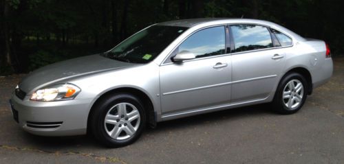
[[107,95],[100,99],[92,110],[89,122],[94,137],[111,148],[136,141],[145,125],[146,115],[142,102],[127,93]]

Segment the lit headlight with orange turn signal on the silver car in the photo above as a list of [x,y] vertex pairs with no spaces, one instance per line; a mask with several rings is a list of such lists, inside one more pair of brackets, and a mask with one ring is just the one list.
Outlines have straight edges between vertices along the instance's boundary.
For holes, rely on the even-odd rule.
[[34,101],[60,101],[66,99],[74,99],[80,92],[78,86],[73,84],[57,84],[54,86],[47,86],[46,88],[39,89],[31,96]]

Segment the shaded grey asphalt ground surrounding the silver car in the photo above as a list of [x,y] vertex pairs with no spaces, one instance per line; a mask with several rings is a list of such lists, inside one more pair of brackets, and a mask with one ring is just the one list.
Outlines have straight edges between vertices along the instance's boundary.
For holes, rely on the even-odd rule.
[[297,114],[248,106],[167,121],[116,149],[21,130],[8,99],[22,77],[0,78],[0,163],[344,163],[344,58]]

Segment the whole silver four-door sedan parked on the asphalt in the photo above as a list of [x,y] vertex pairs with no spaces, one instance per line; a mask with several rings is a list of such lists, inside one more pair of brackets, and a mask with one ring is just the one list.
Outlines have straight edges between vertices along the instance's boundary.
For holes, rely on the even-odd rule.
[[323,40],[268,21],[186,19],[157,23],[113,49],[37,69],[10,99],[24,130],[94,134],[107,146],[136,141],[145,126],[271,103],[296,113],[332,75]]

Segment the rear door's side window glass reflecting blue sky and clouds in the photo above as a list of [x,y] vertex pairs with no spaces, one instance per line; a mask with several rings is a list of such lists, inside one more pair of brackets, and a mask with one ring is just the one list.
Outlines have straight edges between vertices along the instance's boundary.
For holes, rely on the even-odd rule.
[[269,30],[261,25],[230,25],[234,39],[234,52],[272,47]]

